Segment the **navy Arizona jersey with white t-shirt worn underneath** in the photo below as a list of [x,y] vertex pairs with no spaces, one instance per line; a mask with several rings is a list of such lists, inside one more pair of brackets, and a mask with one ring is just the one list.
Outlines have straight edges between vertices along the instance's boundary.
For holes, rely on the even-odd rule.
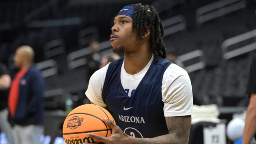
[[138,74],[129,75],[118,59],[92,75],[86,96],[108,107],[128,135],[152,138],[168,134],[165,117],[192,114],[192,88],[185,70],[153,57]]

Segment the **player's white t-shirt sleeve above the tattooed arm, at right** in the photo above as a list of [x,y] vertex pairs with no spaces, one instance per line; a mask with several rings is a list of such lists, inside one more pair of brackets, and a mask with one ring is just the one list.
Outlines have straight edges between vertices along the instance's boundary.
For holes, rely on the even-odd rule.
[[187,72],[171,64],[162,80],[162,101],[165,117],[188,116],[192,114],[193,94]]

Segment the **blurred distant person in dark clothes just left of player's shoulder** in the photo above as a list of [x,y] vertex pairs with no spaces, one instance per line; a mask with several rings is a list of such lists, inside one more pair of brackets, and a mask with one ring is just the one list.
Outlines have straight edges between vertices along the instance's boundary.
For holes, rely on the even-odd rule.
[[[101,54],[99,52],[99,43],[98,41],[92,41],[89,44],[91,53],[87,56],[88,64],[88,77],[90,79],[91,75],[98,70],[101,63]],[[88,80],[89,80],[88,79]]]

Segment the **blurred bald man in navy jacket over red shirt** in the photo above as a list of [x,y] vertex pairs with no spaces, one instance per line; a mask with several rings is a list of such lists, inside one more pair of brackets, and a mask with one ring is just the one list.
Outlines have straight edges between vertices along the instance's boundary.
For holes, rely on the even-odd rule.
[[17,144],[38,144],[43,134],[44,79],[33,66],[33,58],[34,51],[30,46],[19,47],[14,57],[20,70],[11,83],[8,106]]

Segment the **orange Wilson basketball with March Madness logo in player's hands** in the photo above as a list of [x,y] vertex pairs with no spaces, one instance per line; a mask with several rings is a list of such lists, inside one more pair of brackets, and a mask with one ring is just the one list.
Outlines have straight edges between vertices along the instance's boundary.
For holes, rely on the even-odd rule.
[[103,119],[114,121],[111,114],[103,107],[87,104],[76,107],[66,117],[63,124],[63,138],[66,144],[82,144],[84,142],[100,143],[88,137],[86,133],[109,137],[112,129]]

